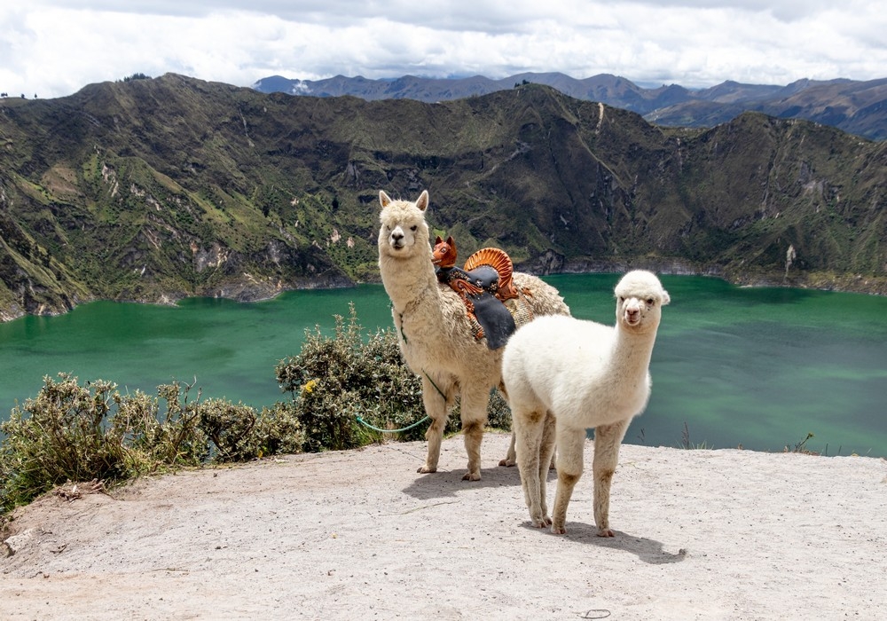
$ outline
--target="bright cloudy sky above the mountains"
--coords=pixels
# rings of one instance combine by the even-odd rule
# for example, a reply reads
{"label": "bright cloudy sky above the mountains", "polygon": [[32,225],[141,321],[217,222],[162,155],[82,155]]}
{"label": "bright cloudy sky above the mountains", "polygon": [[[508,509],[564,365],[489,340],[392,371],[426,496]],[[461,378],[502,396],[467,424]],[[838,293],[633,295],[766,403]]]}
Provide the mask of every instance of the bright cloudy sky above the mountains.
{"label": "bright cloudy sky above the mountains", "polygon": [[884,33],[882,0],[20,0],[0,4],[0,91],[63,97],[168,72],[239,86],[524,71],[691,88],[873,80],[887,77]]}

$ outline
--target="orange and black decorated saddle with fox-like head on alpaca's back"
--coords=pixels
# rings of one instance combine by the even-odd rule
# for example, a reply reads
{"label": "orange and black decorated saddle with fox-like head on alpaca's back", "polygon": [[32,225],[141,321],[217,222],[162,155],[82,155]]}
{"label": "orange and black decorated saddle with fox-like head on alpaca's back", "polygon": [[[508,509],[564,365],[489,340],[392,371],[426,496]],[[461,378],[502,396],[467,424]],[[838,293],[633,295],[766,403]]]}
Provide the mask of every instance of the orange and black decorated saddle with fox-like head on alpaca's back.
{"label": "orange and black decorated saddle with fox-like head on alpaca's back", "polygon": [[[435,240],[431,261],[437,280],[459,294],[475,326],[475,339],[484,336],[487,347],[498,350],[517,329],[515,318],[530,311],[514,287],[514,265],[504,250],[483,248],[468,257],[465,266],[456,267],[456,242],[452,237]],[[529,292],[524,292],[529,295]],[[528,318],[520,317],[523,324]]]}

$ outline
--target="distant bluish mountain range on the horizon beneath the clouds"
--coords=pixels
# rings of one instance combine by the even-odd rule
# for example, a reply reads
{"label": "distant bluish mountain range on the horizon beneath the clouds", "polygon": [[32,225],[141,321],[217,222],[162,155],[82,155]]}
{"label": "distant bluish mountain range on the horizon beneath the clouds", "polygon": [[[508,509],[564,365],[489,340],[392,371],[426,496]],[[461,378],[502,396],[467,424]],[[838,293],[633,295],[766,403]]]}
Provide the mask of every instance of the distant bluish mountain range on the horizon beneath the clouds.
{"label": "distant bluish mountain range on the horizon beneath the clouds", "polygon": [[569,97],[631,110],[648,122],[669,127],[714,127],[751,111],[820,122],[871,140],[887,139],[887,78],[867,82],[798,80],[787,86],[725,82],[691,90],[677,84],[646,89],[608,74],[584,80],[560,73],[526,73],[502,80],[482,75],[454,79],[404,75],[381,80],[342,75],[326,80],[295,80],[272,75],[253,84],[253,88],[264,93],[353,95],[367,100],[417,99],[433,103],[487,95],[525,83],[546,84]]}

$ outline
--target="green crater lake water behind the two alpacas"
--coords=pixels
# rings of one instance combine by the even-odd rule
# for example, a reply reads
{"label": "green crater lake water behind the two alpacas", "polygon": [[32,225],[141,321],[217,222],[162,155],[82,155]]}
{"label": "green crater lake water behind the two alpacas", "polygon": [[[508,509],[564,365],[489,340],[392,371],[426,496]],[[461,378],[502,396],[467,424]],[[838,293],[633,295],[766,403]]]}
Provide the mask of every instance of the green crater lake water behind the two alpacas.
{"label": "green crater lake water behind the two alpacas", "polygon": [[[612,325],[618,275],[546,277],[578,318]],[[887,298],[664,276],[647,411],[625,442],[887,456]],[[96,302],[0,324],[0,420],[43,376],[73,373],[155,394],[170,381],[202,397],[261,407],[284,400],[274,376],[305,330],[333,333],[354,303],[367,331],[391,325],[380,285],[287,292],[258,303],[193,298],[177,306]],[[685,425],[688,436],[685,436]]]}

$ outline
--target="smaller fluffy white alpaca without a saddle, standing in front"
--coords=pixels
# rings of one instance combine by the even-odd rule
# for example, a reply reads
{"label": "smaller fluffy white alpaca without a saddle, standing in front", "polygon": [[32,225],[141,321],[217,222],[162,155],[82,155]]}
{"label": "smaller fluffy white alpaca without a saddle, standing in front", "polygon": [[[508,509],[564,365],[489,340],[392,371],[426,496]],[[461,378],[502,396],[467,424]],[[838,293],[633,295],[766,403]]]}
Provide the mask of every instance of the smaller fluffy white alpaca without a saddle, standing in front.
{"label": "smaller fluffy white alpaca without a saddle, standing in front", "polygon": [[[616,285],[616,326],[544,317],[519,328],[506,344],[502,379],[533,526],[566,532],[586,429],[594,428],[594,522],[600,537],[613,537],[609,491],[619,445],[629,422],[647,407],[650,356],[662,307],[670,301],[655,275],[630,271]],[[546,474],[555,442],[558,484],[551,518]]]}

